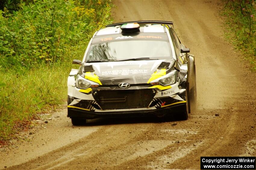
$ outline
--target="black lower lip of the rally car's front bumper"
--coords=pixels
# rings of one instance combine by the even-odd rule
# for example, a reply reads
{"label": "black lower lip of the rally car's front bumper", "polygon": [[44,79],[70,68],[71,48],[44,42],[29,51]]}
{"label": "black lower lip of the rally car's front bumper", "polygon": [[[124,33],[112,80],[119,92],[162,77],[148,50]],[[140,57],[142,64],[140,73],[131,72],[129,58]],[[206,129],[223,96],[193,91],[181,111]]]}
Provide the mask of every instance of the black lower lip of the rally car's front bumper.
{"label": "black lower lip of the rally car's front bumper", "polygon": [[150,116],[169,116],[186,112],[186,102],[176,103],[171,106],[153,110],[132,110],[118,112],[95,112],[77,108],[68,108],[67,117],[75,119],[96,119],[96,118],[134,118]]}

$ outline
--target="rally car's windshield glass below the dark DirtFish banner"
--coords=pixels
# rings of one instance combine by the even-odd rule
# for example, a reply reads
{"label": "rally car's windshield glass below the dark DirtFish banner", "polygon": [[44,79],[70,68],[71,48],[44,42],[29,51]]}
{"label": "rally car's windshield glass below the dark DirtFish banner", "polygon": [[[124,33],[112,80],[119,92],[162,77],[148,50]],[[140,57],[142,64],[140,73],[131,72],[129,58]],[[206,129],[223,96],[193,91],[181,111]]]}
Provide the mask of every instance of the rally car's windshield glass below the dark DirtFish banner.
{"label": "rally car's windshield glass below the dark DirtFish banner", "polygon": [[119,61],[132,58],[170,59],[170,44],[166,40],[125,40],[94,44],[86,62]]}

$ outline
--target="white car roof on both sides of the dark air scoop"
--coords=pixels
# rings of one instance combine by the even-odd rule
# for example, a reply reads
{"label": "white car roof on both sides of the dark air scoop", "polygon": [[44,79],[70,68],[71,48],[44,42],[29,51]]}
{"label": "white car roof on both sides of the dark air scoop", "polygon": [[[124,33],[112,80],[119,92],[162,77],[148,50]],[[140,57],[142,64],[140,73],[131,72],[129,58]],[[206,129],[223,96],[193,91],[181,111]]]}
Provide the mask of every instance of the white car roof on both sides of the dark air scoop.
{"label": "white car roof on both sides of the dark air scoop", "polygon": [[[119,34],[122,32],[121,25],[127,23],[138,23],[140,32],[166,32],[164,27],[173,25],[171,21],[130,21],[107,25],[96,32],[95,35]],[[169,26],[168,26],[169,27]]]}

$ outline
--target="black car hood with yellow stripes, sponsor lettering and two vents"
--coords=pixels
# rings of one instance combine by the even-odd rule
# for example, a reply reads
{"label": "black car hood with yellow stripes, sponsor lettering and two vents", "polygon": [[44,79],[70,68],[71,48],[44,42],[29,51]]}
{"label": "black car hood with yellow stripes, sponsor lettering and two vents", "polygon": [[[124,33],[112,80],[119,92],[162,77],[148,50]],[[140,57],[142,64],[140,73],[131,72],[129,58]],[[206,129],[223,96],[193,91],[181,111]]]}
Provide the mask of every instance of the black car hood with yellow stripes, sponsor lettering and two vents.
{"label": "black car hood with yellow stripes, sponsor lettering and two vents", "polygon": [[98,79],[102,85],[118,85],[123,82],[145,84],[152,74],[163,76],[161,74],[169,73],[175,63],[174,59],[84,63],[79,73],[91,81]]}

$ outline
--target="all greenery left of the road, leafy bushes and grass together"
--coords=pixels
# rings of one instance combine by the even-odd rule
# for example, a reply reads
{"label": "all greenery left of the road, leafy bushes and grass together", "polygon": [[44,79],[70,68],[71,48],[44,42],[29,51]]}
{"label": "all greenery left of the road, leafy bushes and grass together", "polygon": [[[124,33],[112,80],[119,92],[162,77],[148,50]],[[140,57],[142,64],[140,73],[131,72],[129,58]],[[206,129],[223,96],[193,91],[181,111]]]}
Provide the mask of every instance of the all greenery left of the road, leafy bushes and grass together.
{"label": "all greenery left of the road, leafy bushes and grass together", "polygon": [[107,0],[29,2],[0,10],[0,141],[66,101],[72,60],[82,59],[94,32],[111,23]]}

